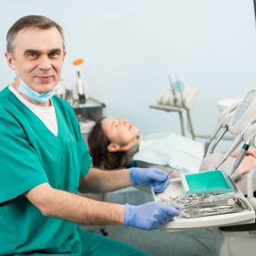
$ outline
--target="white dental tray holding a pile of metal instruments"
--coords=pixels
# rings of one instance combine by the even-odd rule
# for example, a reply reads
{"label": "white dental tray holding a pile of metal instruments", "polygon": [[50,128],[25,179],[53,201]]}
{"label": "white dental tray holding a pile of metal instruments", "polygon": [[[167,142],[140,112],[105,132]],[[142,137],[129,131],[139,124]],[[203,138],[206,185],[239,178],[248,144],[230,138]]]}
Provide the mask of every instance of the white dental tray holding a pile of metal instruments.
{"label": "white dental tray holding a pile of metal instruments", "polygon": [[[186,193],[189,190],[183,189],[182,182],[184,181],[181,178],[172,179],[163,193],[154,193],[152,190],[155,201],[179,207],[181,210],[181,215],[174,217],[173,221],[164,225],[163,230],[170,232],[200,227],[254,223],[255,211],[244,198],[243,193],[229,176],[224,174],[220,177],[224,179],[223,182],[226,182],[224,182],[225,188],[232,189],[230,192],[209,192],[211,191],[209,189],[200,187],[199,190],[198,186],[190,186],[191,190],[200,191],[200,193]],[[187,179],[188,183],[190,183],[189,181],[192,180]],[[210,187],[210,189],[212,188]]]}

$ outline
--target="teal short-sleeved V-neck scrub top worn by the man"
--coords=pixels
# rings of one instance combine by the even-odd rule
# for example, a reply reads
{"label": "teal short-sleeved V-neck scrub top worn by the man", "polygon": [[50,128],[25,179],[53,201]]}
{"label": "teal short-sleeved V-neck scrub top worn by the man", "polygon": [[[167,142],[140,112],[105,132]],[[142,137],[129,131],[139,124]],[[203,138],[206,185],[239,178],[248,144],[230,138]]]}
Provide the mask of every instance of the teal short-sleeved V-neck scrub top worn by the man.
{"label": "teal short-sleeved V-neck scrub top worn by the man", "polygon": [[45,182],[76,193],[92,163],[74,110],[52,102],[57,137],[8,87],[0,93],[0,255],[80,255],[76,225],[43,216],[22,195]]}

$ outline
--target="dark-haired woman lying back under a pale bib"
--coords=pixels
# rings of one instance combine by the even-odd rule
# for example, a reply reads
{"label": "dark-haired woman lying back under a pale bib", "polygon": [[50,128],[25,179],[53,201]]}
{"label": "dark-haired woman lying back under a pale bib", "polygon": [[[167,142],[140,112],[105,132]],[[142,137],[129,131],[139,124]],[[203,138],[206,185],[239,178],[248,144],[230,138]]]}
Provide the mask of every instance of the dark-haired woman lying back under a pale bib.
{"label": "dark-haired woman lying back under a pale bib", "polygon": [[[151,136],[146,142],[138,134],[138,128],[131,125],[128,120],[110,117],[98,120],[88,137],[93,166],[104,170],[128,166],[149,167],[158,163],[158,165],[162,165],[161,168],[166,172],[168,172],[168,167],[166,168],[165,165],[169,165],[172,168],[176,167],[182,172],[187,172],[188,169],[192,169],[190,170],[192,172],[206,171],[215,169],[216,163],[223,156],[221,153],[207,154],[207,157],[202,160],[203,150],[201,144],[170,132],[162,134],[160,138],[159,135]],[[170,146],[170,144],[172,145]],[[151,150],[148,151],[148,148]],[[161,159],[155,159],[157,154],[152,154],[152,149],[154,149],[154,153],[156,152],[162,158],[165,157],[167,151],[171,156],[173,154],[176,157],[171,157],[171,163],[170,159],[169,162],[161,162]],[[176,154],[177,152],[182,154]],[[187,154],[184,154],[184,152]],[[234,152],[222,164],[221,169],[230,173],[235,157],[237,157],[237,153]],[[191,162],[190,159],[193,159],[193,161]],[[172,164],[172,161],[175,163]],[[243,193],[246,193],[246,179],[243,179],[243,174],[249,172],[255,166],[256,151],[250,150],[232,176]],[[174,177],[179,176],[179,174],[179,172],[172,172]]]}

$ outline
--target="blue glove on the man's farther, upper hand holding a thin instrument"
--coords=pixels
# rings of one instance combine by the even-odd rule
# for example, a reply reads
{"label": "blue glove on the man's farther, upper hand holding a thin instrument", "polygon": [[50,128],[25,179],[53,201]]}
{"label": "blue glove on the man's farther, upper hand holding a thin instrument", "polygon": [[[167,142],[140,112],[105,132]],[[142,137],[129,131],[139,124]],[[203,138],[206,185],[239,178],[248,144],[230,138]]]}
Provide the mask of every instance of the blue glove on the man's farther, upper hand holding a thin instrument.
{"label": "blue glove on the man's farther, upper hand holding a thin instrument", "polygon": [[170,184],[170,177],[166,172],[157,168],[130,168],[129,178],[134,185],[154,187],[154,192],[163,192]]}

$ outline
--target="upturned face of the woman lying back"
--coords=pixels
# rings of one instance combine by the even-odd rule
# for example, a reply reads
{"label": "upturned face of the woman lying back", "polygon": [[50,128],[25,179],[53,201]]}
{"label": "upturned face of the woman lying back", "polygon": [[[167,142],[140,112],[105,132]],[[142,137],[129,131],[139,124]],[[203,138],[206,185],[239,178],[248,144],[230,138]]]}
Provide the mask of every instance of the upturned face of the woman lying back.
{"label": "upturned face of the woman lying back", "polygon": [[138,128],[126,119],[102,119],[102,129],[110,142],[119,146],[127,146],[133,140],[137,140]]}

